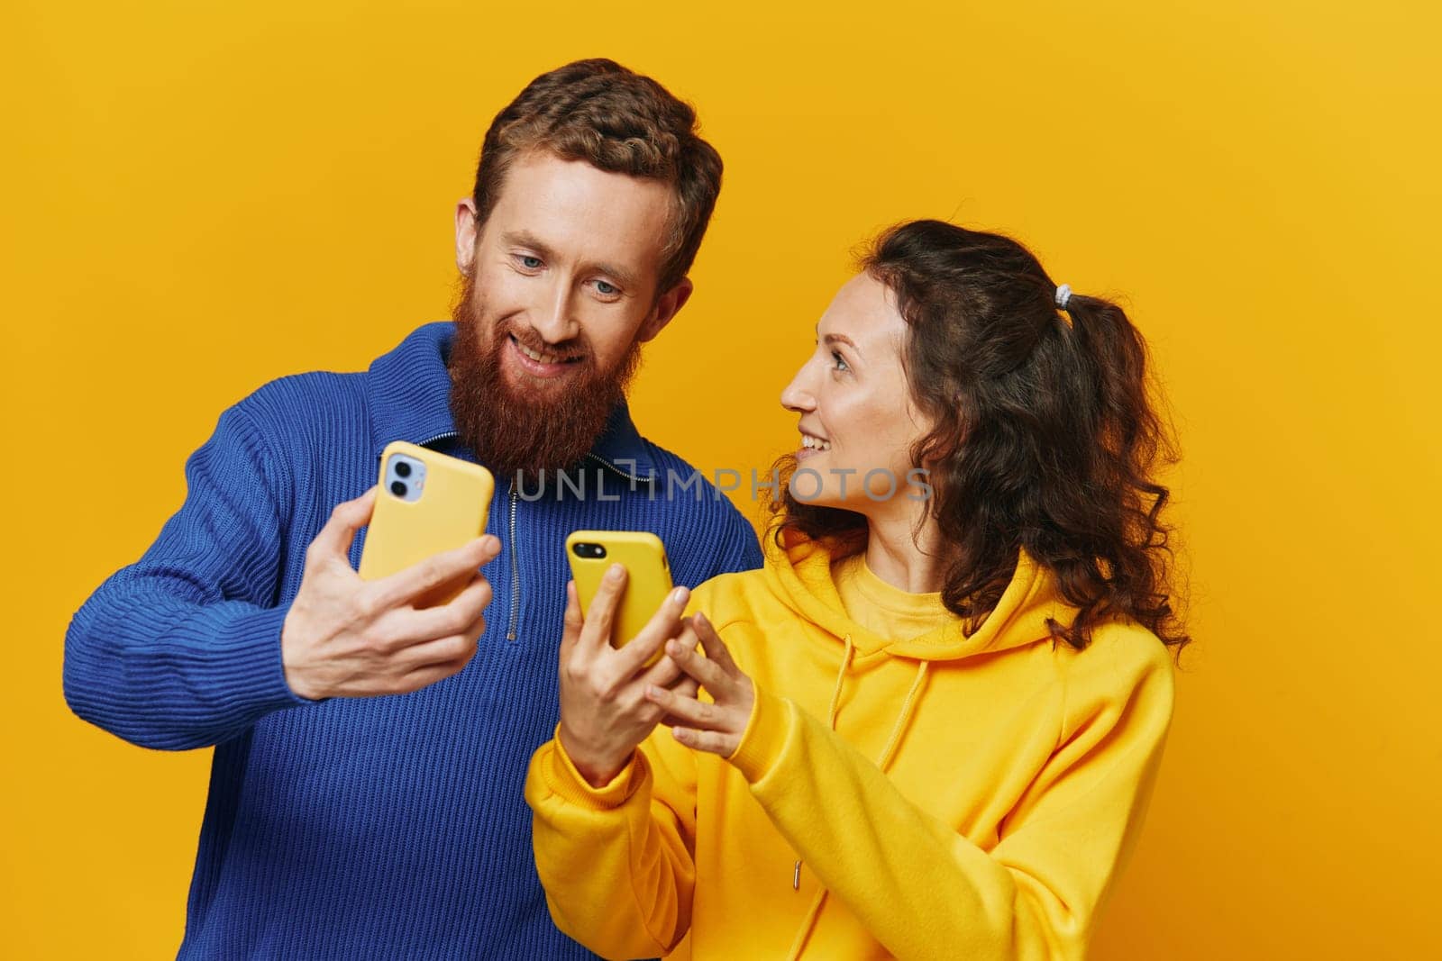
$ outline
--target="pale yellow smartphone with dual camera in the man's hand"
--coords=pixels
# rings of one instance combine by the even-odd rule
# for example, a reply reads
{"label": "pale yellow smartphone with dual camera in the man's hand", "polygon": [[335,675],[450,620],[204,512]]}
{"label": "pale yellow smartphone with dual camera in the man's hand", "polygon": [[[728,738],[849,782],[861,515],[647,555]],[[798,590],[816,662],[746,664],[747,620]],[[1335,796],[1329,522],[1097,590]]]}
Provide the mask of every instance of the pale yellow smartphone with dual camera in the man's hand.
{"label": "pale yellow smartphone with dual camera in the man's hand", "polygon": [[[360,549],[360,576],[378,581],[453,550],[486,532],[496,480],[485,467],[392,441],[381,454],[375,511]],[[473,575],[427,591],[415,607],[435,607],[466,589]]]}

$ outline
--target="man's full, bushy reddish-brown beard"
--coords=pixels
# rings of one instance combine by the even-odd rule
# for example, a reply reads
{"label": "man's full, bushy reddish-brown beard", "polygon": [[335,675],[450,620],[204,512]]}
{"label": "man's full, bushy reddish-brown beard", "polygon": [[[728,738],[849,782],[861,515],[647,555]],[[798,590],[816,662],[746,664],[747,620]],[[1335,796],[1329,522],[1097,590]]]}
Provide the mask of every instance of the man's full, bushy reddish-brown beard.
{"label": "man's full, bushy reddish-brown beard", "polygon": [[[611,370],[596,369],[585,337],[547,344],[529,326],[487,317],[470,278],[451,311],[456,340],[450,353],[450,408],[460,439],[500,483],[516,473],[552,473],[575,467],[596,445],[626,386],[640,366],[640,344],[632,344]],[[554,383],[518,390],[506,376],[503,352],[510,337],[536,352],[575,356],[575,370]]]}

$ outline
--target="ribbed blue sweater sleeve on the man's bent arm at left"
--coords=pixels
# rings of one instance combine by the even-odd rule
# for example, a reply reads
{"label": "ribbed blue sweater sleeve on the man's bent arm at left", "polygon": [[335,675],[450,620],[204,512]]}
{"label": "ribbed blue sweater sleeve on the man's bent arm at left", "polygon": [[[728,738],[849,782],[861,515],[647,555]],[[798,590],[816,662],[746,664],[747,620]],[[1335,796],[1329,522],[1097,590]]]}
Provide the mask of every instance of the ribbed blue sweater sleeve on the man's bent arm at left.
{"label": "ribbed blue sweater sleeve on the man's bent arm at left", "polygon": [[147,748],[215,745],[310,703],[286,684],[274,607],[281,478],[238,405],[186,464],[187,494],[134,565],[102,584],[65,635],[65,699]]}

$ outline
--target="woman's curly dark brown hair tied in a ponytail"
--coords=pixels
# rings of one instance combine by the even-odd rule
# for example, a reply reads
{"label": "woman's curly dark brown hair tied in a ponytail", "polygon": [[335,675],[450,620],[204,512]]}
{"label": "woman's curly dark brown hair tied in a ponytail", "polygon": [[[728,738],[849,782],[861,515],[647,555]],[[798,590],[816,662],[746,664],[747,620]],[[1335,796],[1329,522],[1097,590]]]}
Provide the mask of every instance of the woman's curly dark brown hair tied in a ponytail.
{"label": "woman's curly dark brown hair tied in a ponytail", "polygon": [[[1146,344],[1122,308],[1071,294],[1060,311],[1027,248],[940,220],[891,228],[861,268],[897,300],[911,398],[934,422],[911,460],[929,470],[929,516],[953,552],[947,609],[975,631],[1025,547],[1079,608],[1071,625],[1051,622],[1054,640],[1080,650],[1092,628],[1128,617],[1180,651],[1191,638],[1168,594],[1168,490],[1154,477],[1177,454],[1152,402]],[[776,490],[777,543],[789,530],[864,543],[861,514]]]}

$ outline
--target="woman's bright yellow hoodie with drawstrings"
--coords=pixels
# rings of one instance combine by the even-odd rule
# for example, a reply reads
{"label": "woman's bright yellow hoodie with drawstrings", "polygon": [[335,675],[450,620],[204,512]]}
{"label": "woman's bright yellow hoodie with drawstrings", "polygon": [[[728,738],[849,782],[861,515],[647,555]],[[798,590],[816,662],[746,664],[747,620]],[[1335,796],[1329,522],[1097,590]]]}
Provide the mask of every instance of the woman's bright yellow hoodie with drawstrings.
{"label": "woman's bright yellow hoodie with drawstrings", "polygon": [[1077,651],[1025,552],[996,609],[887,638],[793,539],[692,595],[756,684],[730,758],[659,728],[593,788],[551,741],[526,781],[557,925],[611,958],[1080,958],[1135,843],[1172,712],[1131,621]]}

